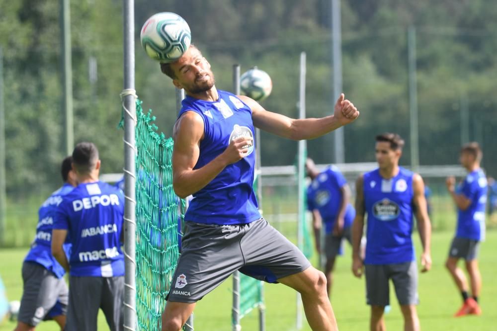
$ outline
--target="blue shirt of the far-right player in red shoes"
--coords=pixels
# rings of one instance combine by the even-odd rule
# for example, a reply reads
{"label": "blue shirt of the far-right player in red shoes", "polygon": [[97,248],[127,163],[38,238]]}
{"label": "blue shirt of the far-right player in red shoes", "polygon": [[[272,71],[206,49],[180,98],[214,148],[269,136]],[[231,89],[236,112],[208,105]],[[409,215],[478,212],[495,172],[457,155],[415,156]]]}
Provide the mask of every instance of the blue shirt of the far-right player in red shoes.
{"label": "blue shirt of the far-right player in red shoes", "polygon": [[485,240],[485,208],[487,206],[487,177],[482,169],[468,173],[458,187],[458,194],[471,200],[466,210],[458,210],[456,237]]}

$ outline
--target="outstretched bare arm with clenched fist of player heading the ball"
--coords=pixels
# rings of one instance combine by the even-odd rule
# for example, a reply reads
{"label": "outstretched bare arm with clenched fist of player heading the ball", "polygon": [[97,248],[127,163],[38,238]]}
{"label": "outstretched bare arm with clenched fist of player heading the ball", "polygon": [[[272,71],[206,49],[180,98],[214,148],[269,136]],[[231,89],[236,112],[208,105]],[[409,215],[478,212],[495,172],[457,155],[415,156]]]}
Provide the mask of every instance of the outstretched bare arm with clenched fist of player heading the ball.
{"label": "outstretched bare arm with clenched fist of player heading the ball", "polygon": [[359,117],[359,111],[342,93],[336,101],[333,115],[322,118],[293,119],[285,115],[265,110],[248,96],[239,95],[252,109],[253,125],[277,136],[292,139],[314,139],[321,137],[341,126],[352,123]]}

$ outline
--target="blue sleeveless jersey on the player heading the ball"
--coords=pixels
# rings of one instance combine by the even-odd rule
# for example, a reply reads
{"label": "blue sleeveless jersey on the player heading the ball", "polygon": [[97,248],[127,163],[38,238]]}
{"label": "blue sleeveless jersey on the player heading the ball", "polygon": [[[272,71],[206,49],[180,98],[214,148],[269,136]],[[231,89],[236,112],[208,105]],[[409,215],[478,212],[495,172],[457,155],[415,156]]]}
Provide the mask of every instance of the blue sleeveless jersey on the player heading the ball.
{"label": "blue sleeveless jersey on the player heading the ball", "polygon": [[[198,169],[223,153],[230,142],[245,136],[254,138],[251,109],[236,95],[218,90],[215,102],[186,96],[178,118],[194,111],[204,121],[204,139],[194,169]],[[255,140],[253,141],[255,144]],[[227,165],[210,183],[198,192],[185,214],[185,221],[204,224],[246,224],[259,219],[257,200],[252,189],[254,178],[254,145],[248,155]]]}

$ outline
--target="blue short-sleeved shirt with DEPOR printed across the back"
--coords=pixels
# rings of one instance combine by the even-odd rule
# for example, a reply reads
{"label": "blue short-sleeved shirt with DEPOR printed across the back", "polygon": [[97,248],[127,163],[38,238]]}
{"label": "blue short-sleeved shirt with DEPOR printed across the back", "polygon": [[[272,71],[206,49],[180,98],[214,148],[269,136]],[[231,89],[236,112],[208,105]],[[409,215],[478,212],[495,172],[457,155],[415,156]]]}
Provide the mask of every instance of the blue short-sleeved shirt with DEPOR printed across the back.
{"label": "blue short-sleeved shirt with DEPOR printed across the back", "polygon": [[64,197],[54,229],[67,230],[73,244],[69,258],[72,276],[124,275],[123,216],[122,191],[101,181],[80,184]]}

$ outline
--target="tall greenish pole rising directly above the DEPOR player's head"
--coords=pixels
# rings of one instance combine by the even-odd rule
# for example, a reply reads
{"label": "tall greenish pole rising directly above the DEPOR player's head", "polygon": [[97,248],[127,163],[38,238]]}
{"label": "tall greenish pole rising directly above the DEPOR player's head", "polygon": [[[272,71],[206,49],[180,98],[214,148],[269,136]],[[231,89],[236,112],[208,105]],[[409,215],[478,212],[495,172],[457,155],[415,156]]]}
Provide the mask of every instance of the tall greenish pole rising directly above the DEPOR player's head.
{"label": "tall greenish pole rising directly above the DEPOR player's head", "polygon": [[71,62],[71,6],[69,0],[60,0],[61,58],[64,95],[65,154],[71,155],[74,148],[73,125],[73,65]]}

